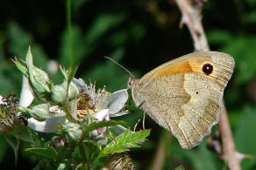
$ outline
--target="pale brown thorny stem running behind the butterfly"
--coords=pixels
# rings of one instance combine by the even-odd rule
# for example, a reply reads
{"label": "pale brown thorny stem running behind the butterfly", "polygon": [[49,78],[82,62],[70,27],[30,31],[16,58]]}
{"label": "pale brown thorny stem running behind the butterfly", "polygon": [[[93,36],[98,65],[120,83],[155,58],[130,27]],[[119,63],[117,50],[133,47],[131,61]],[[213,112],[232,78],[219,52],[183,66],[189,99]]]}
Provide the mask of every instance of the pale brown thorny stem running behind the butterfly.
{"label": "pale brown thorny stem running behind the butterfly", "polygon": [[[203,3],[197,1],[197,4],[193,4],[193,2],[189,0],[176,0],[176,3],[182,14],[181,24],[186,24],[188,26],[188,30],[194,40],[196,51],[210,51],[210,47],[203,31],[201,15]],[[220,112],[218,128],[221,133],[224,160],[227,162],[229,169],[240,170],[240,161],[237,157],[238,152],[235,148],[225,106],[223,111]]]}

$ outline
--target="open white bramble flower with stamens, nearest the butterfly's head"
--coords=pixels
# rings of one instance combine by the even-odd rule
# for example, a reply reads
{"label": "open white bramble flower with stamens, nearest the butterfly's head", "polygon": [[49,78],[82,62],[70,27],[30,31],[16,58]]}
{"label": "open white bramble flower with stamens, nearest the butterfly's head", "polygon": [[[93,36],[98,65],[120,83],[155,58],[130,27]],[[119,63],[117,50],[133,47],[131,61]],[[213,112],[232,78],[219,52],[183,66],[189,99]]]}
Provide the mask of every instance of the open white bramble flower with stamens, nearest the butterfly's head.
{"label": "open white bramble flower with stamens, nearest the butterfly's head", "polygon": [[[82,78],[73,78],[73,82],[77,85],[78,89],[83,91],[89,96],[89,101],[86,103],[89,108],[94,108],[94,121],[108,121],[110,117],[123,116],[129,113],[128,111],[122,111],[125,107],[126,101],[128,99],[127,89],[122,89],[117,92],[110,94],[106,92],[105,89],[99,89],[96,92],[95,84],[86,85]],[[117,133],[124,132],[126,130],[123,126],[113,127]],[[98,136],[106,131],[106,127],[96,129],[91,132],[92,136]]]}

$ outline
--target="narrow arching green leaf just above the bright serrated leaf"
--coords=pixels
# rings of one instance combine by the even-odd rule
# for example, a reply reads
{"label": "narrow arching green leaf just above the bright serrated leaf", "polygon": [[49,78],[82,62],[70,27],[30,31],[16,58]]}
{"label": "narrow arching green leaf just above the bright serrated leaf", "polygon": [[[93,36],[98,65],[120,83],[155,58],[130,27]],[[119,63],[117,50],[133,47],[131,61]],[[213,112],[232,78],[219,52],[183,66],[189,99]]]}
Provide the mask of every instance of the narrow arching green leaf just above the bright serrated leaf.
{"label": "narrow arching green leaf just above the bright serrated leaf", "polygon": [[82,126],[84,134],[87,134],[93,130],[107,127],[107,126],[127,126],[124,121],[115,121],[115,120],[109,120],[109,121],[100,121],[100,122],[93,122],[89,124],[89,126]]}

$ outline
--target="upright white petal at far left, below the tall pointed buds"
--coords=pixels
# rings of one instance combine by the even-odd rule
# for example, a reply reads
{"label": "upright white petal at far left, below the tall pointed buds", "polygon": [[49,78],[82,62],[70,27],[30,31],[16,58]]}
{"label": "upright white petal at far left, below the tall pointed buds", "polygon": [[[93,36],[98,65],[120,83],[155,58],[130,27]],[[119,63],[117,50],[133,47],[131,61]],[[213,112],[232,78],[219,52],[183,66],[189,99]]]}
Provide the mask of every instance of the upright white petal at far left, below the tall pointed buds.
{"label": "upright white petal at far left, below the tall pointed buds", "polygon": [[23,75],[22,78],[22,89],[20,92],[19,105],[27,107],[32,104],[34,99],[32,88],[29,85],[28,78]]}

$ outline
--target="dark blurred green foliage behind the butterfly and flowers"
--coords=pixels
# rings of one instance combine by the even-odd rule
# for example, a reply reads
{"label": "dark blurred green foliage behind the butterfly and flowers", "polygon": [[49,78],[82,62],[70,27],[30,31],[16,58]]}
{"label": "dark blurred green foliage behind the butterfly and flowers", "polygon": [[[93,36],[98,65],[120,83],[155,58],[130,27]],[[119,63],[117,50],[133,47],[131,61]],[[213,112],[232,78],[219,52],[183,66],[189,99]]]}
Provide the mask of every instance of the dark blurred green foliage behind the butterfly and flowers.
{"label": "dark blurred green foliage behind the butterfly and flowers", "polygon": [[[256,1],[208,0],[203,6],[203,26],[212,51],[230,53],[236,61],[234,74],[224,92],[233,137],[240,153],[256,157]],[[0,6],[0,94],[19,95],[21,73],[11,63],[25,58],[32,45],[35,65],[60,83],[56,64],[80,64],[76,78],[96,80],[98,87],[114,92],[126,87],[129,74],[104,56],[114,58],[138,78],[154,67],[193,51],[186,26],[179,28],[180,10],[174,0],[73,0],[72,41],[68,37],[65,1],[2,0]],[[72,44],[72,56],[68,44]],[[142,112],[122,118],[131,126]],[[138,169],[158,165],[173,169],[227,169],[217,153],[201,146],[183,150],[169,133],[146,118],[152,134],[145,145],[131,151]],[[139,127],[141,125],[139,124]],[[36,160],[18,153],[18,167],[32,169]],[[164,148],[160,150],[159,148]],[[160,153],[160,154],[157,154]],[[160,163],[157,159],[163,156]],[[243,169],[256,169],[256,160],[242,160]],[[14,168],[14,154],[0,133],[0,168]]]}

